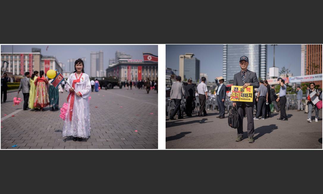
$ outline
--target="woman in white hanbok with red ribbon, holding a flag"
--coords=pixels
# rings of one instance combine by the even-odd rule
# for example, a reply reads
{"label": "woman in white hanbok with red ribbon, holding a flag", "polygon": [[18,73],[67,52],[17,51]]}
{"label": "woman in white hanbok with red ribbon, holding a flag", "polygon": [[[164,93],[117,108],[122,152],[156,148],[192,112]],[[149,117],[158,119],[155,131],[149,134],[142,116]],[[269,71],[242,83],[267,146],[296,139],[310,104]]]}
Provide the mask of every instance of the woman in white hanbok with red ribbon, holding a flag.
{"label": "woman in white hanbok with red ribbon, holding a flag", "polygon": [[69,75],[65,90],[68,106],[63,125],[62,136],[73,136],[73,141],[82,141],[90,136],[90,110],[89,96],[91,84],[89,75],[84,73],[84,62],[81,59],[75,61],[74,73]]}

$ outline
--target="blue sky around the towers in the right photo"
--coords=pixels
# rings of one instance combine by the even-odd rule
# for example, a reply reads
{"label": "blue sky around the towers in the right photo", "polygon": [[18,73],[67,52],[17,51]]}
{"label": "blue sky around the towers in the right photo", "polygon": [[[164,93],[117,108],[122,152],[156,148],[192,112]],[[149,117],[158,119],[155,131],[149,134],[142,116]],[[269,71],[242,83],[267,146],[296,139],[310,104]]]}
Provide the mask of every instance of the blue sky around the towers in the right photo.
{"label": "blue sky around the towers in the right photo", "polygon": [[[179,70],[179,55],[194,53],[200,59],[200,72],[207,73],[208,79],[214,81],[215,77],[222,76],[223,45],[166,45],[166,67]],[[267,46],[267,72],[273,66],[274,47]],[[237,65],[239,65],[237,59]],[[301,74],[301,46],[276,45],[275,66],[279,70],[283,66],[291,70],[294,76]],[[176,74],[179,72],[177,71]],[[257,75],[259,77],[259,75]]]}

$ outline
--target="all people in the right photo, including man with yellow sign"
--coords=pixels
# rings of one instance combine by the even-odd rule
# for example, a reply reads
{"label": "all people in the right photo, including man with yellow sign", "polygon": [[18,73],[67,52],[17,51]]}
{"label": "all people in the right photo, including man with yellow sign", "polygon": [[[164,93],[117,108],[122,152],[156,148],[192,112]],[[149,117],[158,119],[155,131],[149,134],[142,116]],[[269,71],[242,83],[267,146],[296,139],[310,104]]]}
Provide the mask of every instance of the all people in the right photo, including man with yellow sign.
{"label": "all people in the right photo, including man with yellow sign", "polygon": [[[257,75],[255,72],[252,72],[247,69],[249,65],[248,57],[242,56],[239,60],[239,65],[241,71],[234,75],[234,86],[242,86],[243,88],[247,88],[248,86],[253,86],[255,89],[255,93],[253,95],[252,102],[240,102],[240,101],[233,101],[232,106],[233,108],[236,107],[237,112],[239,114],[239,127],[237,128],[237,138],[235,141],[240,142],[243,137],[243,118],[247,117],[247,134],[248,134],[248,142],[253,143],[254,139],[253,136],[255,134],[255,127],[254,127],[254,120],[258,120],[260,117],[262,120],[266,118],[272,117],[271,115],[271,108],[270,104],[276,109],[276,112],[280,113],[279,118],[277,120],[281,121],[288,121],[287,114],[286,114],[286,91],[287,86],[285,84],[284,79],[278,78],[279,81],[279,96],[276,95],[275,85],[269,85],[267,80],[260,80],[258,81]],[[217,118],[223,119],[225,113],[225,106],[224,102],[227,97],[230,98],[231,93],[226,92],[226,86],[224,85],[224,79],[215,79],[215,83],[217,84],[217,89],[214,91],[214,95],[208,92],[205,81],[206,78],[202,77],[201,82],[195,86],[192,85],[192,80],[188,80],[188,84],[184,87],[181,83],[182,78],[181,76],[176,76],[176,82],[172,84],[172,89],[170,93],[170,99],[173,100],[175,107],[172,113],[169,115],[170,120],[175,120],[174,116],[176,113],[178,114],[178,119],[183,119],[183,114],[181,110],[181,101],[183,97],[186,99],[186,107],[185,112],[188,117],[192,116],[192,110],[194,107],[195,99],[198,98],[200,109],[197,113],[197,116],[203,117],[207,115],[205,110],[205,102],[208,100],[209,96],[215,97],[217,106],[219,109],[219,115]],[[320,100],[322,100],[322,92],[319,92],[315,89],[315,83],[310,83],[310,87],[307,89],[306,93],[306,110],[305,112],[308,113],[307,122],[311,123],[311,115],[312,110],[315,110],[315,121],[318,122],[318,106],[314,105],[312,100],[309,98],[312,92],[315,92],[317,96],[319,96]],[[303,92],[300,87],[297,87],[297,111],[300,111],[301,103],[303,99]],[[279,102],[279,107],[277,105]],[[256,113],[254,116],[254,108],[256,109]]]}

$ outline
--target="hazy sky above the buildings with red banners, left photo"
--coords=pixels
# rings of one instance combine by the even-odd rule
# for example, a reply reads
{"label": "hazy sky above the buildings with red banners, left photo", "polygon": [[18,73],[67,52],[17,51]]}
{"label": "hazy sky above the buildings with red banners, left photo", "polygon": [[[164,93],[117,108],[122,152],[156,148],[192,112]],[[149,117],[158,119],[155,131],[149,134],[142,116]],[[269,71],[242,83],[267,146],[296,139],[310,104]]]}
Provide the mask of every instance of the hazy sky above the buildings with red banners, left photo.
{"label": "hazy sky above the buildings with red banners, left photo", "polygon": [[[47,51],[46,48],[48,47]],[[115,58],[117,50],[126,52],[132,59],[143,59],[142,53],[158,55],[158,45],[14,45],[14,52],[31,52],[31,48],[41,48],[42,55],[55,55],[58,61],[68,65],[68,59],[86,58],[85,72],[90,73],[91,51],[103,50],[104,70],[108,68],[109,59]],[[12,45],[1,45],[1,52],[11,52]],[[74,67],[71,68],[74,70]]]}

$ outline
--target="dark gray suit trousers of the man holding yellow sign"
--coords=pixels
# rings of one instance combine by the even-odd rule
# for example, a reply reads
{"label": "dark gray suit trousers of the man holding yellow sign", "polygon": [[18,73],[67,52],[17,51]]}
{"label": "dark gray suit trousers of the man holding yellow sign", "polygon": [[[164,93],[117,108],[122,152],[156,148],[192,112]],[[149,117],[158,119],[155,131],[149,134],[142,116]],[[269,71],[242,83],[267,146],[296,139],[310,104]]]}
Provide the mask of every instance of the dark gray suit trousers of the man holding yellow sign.
{"label": "dark gray suit trousers of the man holding yellow sign", "polygon": [[247,132],[248,137],[253,137],[255,135],[255,125],[254,125],[254,106],[247,106],[244,102],[242,102],[241,106],[237,106],[239,113],[239,122],[240,125],[238,127],[238,135],[243,135],[243,117],[244,112],[247,114]]}

